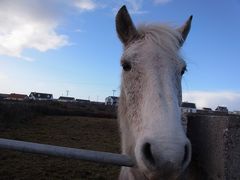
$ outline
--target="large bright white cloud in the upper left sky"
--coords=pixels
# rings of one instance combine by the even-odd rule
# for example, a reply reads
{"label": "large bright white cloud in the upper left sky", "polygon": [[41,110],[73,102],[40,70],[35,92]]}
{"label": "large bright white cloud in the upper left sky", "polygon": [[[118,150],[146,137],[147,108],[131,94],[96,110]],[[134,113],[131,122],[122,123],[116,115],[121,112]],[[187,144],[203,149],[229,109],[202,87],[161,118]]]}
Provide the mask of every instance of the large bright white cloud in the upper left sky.
{"label": "large bright white cloud in the upper left sky", "polygon": [[68,44],[68,37],[56,31],[59,24],[52,2],[0,1],[0,55],[32,60],[22,55],[24,49],[45,52]]}

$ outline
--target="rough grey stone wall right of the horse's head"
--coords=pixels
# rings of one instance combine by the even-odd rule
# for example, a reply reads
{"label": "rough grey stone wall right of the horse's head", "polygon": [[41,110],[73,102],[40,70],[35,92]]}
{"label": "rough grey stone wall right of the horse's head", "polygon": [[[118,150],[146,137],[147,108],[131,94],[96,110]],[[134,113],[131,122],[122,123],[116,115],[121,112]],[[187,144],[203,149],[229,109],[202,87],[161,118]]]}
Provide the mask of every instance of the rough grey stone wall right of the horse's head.
{"label": "rough grey stone wall right of the horse's head", "polygon": [[240,116],[188,115],[192,162],[187,179],[240,179]]}

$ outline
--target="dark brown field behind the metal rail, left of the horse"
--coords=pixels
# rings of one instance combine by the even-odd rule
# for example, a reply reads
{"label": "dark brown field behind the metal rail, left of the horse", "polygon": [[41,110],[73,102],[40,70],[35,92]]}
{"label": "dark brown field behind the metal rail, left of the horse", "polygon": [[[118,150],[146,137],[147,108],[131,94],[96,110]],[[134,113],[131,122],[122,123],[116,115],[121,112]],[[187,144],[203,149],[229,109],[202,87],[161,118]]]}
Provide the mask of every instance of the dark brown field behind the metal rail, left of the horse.
{"label": "dark brown field behind the metal rail, left of the horse", "polygon": [[[42,116],[1,129],[1,138],[120,152],[116,119]],[[0,180],[117,179],[120,167],[0,150]]]}

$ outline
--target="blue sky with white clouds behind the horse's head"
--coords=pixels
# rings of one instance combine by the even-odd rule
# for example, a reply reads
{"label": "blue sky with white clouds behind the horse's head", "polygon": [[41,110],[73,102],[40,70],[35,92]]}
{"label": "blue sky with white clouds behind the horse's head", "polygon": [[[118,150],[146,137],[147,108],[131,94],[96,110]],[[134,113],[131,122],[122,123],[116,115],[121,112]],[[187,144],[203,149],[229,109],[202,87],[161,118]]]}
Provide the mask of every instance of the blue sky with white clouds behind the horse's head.
{"label": "blue sky with white clouds behind the horse's head", "polygon": [[115,15],[122,5],[136,25],[180,27],[193,15],[181,48],[183,100],[240,110],[240,0],[1,0],[0,93],[119,95]]}

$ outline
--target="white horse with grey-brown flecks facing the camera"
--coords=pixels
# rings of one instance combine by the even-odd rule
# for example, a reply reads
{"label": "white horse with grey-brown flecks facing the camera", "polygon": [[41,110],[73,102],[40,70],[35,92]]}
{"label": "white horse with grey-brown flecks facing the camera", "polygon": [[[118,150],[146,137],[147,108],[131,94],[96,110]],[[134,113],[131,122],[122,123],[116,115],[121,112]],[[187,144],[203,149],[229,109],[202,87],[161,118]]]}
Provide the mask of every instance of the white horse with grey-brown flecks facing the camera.
{"label": "white horse with grey-brown flecks facing the camera", "polygon": [[123,6],[116,30],[123,43],[118,108],[122,153],[136,167],[123,167],[119,179],[177,179],[191,160],[191,144],[181,124],[181,77],[186,63],[179,55],[192,16],[178,29],[163,25],[136,28]]}

